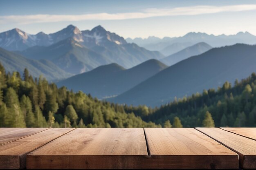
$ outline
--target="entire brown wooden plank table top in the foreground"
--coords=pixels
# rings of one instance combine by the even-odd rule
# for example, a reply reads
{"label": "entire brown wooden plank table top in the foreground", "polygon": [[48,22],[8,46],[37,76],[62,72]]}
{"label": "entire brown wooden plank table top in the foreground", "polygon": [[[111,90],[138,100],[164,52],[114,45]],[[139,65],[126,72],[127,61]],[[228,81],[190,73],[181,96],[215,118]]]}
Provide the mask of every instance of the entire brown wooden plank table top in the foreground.
{"label": "entire brown wooden plank table top in the foreground", "polygon": [[255,128],[0,128],[0,169],[256,168]]}

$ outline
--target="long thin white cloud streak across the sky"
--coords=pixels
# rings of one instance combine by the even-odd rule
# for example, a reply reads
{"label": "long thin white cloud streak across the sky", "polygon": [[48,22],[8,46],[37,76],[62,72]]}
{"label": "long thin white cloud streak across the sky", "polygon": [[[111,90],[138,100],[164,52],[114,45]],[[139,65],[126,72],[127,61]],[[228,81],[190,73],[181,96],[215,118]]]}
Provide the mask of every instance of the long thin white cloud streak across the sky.
{"label": "long thin white cloud streak across the sky", "polygon": [[193,6],[171,9],[145,9],[132,13],[91,13],[83,15],[5,15],[0,16],[0,23],[14,22],[30,24],[42,22],[82,21],[82,20],[127,20],[161,16],[202,15],[220,12],[238,12],[256,10],[256,4],[240,4],[229,6]]}

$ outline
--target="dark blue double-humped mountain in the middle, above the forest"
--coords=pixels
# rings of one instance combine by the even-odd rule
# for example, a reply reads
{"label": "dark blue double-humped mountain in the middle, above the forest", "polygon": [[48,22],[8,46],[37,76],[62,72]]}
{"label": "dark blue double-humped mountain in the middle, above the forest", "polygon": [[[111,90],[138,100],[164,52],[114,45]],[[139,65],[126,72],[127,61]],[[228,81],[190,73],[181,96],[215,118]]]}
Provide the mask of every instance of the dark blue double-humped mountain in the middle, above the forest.
{"label": "dark blue double-humped mountain in the middle, above the forest", "polygon": [[127,70],[113,63],[99,66],[56,84],[74,91],[81,90],[101,99],[123,93],[166,67],[158,60],[148,60]]}

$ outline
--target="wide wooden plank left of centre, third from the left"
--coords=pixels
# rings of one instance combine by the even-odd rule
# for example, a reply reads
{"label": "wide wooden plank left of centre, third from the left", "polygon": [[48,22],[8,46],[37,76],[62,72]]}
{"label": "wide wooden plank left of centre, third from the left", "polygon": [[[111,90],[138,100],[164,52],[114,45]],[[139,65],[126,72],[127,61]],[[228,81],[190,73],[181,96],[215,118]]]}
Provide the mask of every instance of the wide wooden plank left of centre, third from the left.
{"label": "wide wooden plank left of centre, third from the left", "polygon": [[143,157],[143,128],[77,128],[29,153],[27,169],[137,169]]}

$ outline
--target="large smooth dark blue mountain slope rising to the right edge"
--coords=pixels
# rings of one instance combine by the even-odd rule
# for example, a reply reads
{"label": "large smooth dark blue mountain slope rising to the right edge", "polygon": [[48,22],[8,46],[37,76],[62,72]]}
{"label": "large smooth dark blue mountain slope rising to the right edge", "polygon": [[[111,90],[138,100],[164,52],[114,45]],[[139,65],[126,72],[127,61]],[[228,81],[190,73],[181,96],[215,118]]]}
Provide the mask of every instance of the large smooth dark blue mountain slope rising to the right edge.
{"label": "large smooth dark blue mountain slope rising to the right edge", "polygon": [[108,99],[126,104],[159,106],[203,89],[217,88],[256,71],[256,46],[235,44],[211,49],[178,62],[125,93]]}

